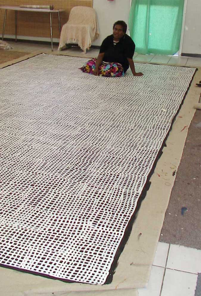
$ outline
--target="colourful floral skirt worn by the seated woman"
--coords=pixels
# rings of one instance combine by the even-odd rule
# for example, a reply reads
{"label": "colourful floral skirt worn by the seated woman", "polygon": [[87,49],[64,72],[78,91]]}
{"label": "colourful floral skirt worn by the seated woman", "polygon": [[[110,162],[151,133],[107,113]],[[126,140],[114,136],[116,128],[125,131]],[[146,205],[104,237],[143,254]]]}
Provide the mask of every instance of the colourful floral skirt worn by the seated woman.
{"label": "colourful floral skirt worn by the seated woman", "polygon": [[[82,72],[93,74],[96,67],[96,59],[91,59],[80,68]],[[124,76],[124,69],[119,63],[102,63],[99,67],[99,76],[105,77],[121,77]]]}

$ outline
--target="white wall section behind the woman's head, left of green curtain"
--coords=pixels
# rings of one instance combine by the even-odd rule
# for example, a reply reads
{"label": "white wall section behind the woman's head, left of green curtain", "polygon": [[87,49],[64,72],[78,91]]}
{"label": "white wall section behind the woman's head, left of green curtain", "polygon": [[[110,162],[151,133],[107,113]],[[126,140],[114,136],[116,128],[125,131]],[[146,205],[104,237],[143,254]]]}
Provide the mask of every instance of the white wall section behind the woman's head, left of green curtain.
{"label": "white wall section behind the woman's head, left of green curtain", "polygon": [[93,0],[93,8],[98,18],[100,37],[92,45],[101,45],[103,39],[112,34],[116,21],[125,21],[128,25],[130,0]]}

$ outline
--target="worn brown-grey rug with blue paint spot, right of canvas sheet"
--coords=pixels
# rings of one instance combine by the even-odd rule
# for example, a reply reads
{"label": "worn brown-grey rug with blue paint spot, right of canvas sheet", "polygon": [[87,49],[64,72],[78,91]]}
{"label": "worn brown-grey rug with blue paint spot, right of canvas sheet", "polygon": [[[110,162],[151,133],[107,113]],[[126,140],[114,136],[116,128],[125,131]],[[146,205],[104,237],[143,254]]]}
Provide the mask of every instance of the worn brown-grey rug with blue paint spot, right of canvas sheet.
{"label": "worn brown-grey rug with blue paint spot, right of canvas sheet", "polygon": [[201,249],[201,110],[188,130],[160,241]]}

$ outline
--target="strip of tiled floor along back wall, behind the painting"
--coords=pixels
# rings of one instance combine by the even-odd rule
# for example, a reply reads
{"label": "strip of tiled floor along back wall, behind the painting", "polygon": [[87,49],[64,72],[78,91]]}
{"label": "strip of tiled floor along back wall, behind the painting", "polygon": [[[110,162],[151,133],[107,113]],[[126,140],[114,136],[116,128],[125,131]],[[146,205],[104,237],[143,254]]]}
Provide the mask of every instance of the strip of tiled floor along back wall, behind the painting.
{"label": "strip of tiled floor along back wall, behind the painting", "polygon": [[[13,46],[13,50],[15,51],[49,51],[52,53],[50,44],[38,44],[38,43],[29,43],[29,42],[14,42],[9,41],[9,44]],[[87,51],[86,54],[83,54],[80,48],[71,47],[64,51],[57,51],[58,46],[53,45],[53,53],[57,54],[67,54],[74,56],[83,56],[83,57],[96,57],[99,53],[98,49],[91,48]],[[191,58],[185,56],[163,56],[163,55],[155,55],[155,54],[139,54],[135,53],[133,57],[136,62],[151,62],[151,63],[159,63],[159,64],[174,64],[178,66],[196,66],[201,67],[201,58]]]}

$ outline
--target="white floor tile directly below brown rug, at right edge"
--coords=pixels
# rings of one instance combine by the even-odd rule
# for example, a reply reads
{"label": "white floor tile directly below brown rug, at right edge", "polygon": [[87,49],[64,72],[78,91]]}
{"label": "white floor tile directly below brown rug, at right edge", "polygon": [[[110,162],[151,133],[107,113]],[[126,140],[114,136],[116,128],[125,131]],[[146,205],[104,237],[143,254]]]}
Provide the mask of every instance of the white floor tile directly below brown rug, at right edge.
{"label": "white floor tile directly below brown rug, at right edge", "polygon": [[166,267],[191,273],[200,273],[201,250],[171,244]]}

